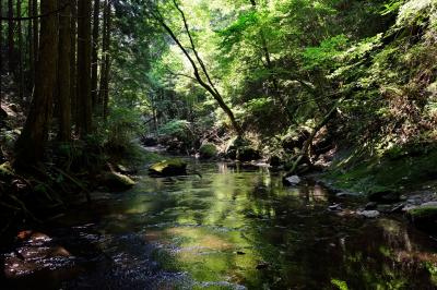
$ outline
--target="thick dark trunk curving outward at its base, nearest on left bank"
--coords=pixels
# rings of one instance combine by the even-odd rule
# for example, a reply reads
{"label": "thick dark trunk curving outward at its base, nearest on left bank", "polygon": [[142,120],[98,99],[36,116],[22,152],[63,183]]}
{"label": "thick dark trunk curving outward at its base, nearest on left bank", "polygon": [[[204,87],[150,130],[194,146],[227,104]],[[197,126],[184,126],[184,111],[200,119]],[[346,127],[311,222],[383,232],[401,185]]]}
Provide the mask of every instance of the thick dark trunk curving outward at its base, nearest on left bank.
{"label": "thick dark trunk curving outward at its base, nearest on left bank", "polygon": [[[42,13],[57,9],[56,0],[42,0]],[[23,131],[15,144],[15,166],[29,167],[42,160],[48,138],[54,104],[58,56],[58,15],[42,17],[39,60],[36,64],[36,85]]]}

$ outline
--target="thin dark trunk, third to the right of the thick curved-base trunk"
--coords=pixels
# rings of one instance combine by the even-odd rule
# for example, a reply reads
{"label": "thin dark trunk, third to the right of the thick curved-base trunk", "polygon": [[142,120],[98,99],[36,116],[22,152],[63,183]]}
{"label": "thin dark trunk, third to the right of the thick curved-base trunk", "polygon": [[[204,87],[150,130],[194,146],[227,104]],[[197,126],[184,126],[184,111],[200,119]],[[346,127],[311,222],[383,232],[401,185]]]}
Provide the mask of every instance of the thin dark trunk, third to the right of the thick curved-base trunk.
{"label": "thin dark trunk, third to the right of the thick curved-base trunk", "polygon": [[93,12],[93,52],[91,55],[91,95],[93,99],[93,110],[97,106],[97,71],[98,71],[98,28],[99,28],[101,0],[94,0]]}

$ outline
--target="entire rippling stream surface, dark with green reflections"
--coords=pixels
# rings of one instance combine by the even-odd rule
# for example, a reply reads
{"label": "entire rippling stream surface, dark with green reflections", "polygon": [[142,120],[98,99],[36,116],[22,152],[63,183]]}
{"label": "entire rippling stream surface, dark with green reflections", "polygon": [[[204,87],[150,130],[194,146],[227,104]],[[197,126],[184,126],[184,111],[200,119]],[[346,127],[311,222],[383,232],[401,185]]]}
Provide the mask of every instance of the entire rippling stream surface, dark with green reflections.
{"label": "entire rippling stream surface, dark with green reflections", "polygon": [[364,219],[265,167],[189,162],[200,174],[143,171],[20,233],[0,289],[437,289],[437,242],[403,218]]}

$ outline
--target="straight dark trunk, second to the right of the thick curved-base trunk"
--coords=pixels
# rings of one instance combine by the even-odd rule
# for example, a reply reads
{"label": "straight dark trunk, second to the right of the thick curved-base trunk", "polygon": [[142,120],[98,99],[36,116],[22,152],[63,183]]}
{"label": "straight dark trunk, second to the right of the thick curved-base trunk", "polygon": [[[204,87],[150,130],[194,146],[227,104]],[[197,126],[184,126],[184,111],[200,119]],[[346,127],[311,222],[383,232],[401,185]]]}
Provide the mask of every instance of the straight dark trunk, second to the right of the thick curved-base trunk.
{"label": "straight dark trunk, second to the right of the thick curved-base trunk", "polygon": [[91,0],[78,2],[78,95],[79,133],[92,131],[91,99]]}

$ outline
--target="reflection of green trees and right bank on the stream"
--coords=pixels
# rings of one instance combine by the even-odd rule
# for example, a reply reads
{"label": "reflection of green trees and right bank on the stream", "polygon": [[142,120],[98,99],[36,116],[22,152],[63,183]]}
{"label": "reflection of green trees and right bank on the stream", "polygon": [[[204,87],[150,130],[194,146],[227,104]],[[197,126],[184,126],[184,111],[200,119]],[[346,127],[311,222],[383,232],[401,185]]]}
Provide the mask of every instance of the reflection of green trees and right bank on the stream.
{"label": "reflection of green trees and right bank on the stream", "polygon": [[[430,245],[420,246],[421,235],[404,225],[338,217],[326,212],[322,189],[284,188],[280,176],[264,169],[220,164],[221,173],[208,170],[200,170],[202,179],[145,182],[153,197],[137,194],[125,205],[135,214],[115,222],[123,230],[140,228],[144,237],[153,233],[153,240],[144,239],[160,244],[160,262],[165,256],[165,267],[198,280],[231,279],[255,289],[320,289],[332,278],[351,289],[432,285],[420,266],[421,258],[432,261]],[[269,266],[256,269],[260,262]]]}

